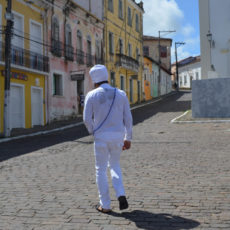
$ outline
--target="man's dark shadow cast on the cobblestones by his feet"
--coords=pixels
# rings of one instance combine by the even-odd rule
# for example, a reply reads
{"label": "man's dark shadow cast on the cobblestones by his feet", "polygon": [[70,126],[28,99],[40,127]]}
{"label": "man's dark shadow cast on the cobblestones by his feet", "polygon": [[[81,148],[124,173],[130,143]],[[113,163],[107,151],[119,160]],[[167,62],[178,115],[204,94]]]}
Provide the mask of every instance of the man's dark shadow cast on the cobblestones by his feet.
{"label": "man's dark shadow cast on the cobblestones by his feet", "polygon": [[136,224],[138,228],[145,230],[180,230],[192,229],[200,225],[199,222],[186,219],[180,216],[174,216],[166,213],[154,214],[147,211],[134,210],[131,212],[115,213],[110,215],[114,217],[122,217]]}

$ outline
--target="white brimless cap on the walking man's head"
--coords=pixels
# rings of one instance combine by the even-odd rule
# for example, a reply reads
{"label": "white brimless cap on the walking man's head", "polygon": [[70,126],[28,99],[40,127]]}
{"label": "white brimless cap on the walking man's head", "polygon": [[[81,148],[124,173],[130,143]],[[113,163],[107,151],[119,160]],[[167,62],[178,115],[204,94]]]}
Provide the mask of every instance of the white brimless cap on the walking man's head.
{"label": "white brimless cap on the walking man's head", "polygon": [[92,78],[93,83],[108,81],[108,71],[104,65],[93,66],[89,71],[89,75]]}

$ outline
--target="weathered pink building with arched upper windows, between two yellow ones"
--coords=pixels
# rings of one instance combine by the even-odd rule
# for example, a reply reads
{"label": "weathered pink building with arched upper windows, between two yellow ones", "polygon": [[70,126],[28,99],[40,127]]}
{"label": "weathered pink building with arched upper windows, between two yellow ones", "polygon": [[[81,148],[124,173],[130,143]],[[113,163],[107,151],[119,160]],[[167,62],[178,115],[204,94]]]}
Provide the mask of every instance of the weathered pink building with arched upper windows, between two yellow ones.
{"label": "weathered pink building with arched upper windows, between two yellow ones", "polygon": [[76,1],[65,3],[55,1],[47,13],[49,122],[79,113],[78,94],[86,95],[92,89],[89,69],[103,63],[104,56],[101,19]]}

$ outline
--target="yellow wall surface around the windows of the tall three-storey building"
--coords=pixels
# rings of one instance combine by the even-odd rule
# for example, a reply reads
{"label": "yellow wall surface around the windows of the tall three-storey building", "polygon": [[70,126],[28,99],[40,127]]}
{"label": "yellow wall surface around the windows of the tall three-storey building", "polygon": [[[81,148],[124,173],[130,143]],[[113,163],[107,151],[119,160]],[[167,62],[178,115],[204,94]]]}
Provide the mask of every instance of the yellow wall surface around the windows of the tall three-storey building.
{"label": "yellow wall surface around the windows of the tall three-storey building", "polygon": [[[118,16],[118,1],[114,1],[113,12],[108,10],[108,1],[104,1],[104,12],[105,12],[105,48],[106,48],[106,66],[108,68],[109,75],[111,72],[115,73],[115,85],[120,88],[120,75],[125,78],[125,92],[130,98],[130,79],[133,79],[133,100],[130,101],[131,104],[138,102],[138,82],[140,82],[140,92],[139,97],[142,100],[142,73],[143,67],[139,64],[138,71],[134,71],[132,68],[121,67],[116,64],[118,57],[116,54],[119,51],[119,39],[123,40],[123,54],[128,55],[128,44],[132,46],[133,59],[136,59],[136,48],[139,49],[139,63],[143,63],[142,54],[142,31],[143,31],[143,11],[137,4],[132,0],[124,0],[123,2],[123,19]],[[127,11],[128,7],[131,8],[132,12],[132,27],[128,25],[127,22]],[[139,32],[136,31],[135,17],[136,13],[139,16]],[[109,53],[109,33],[113,33],[114,36],[114,54]]]}

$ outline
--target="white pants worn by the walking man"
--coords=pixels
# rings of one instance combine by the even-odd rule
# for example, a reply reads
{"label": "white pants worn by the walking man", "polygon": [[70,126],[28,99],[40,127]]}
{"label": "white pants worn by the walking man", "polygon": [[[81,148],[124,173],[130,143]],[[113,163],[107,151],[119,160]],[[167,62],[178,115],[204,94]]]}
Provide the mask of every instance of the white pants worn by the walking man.
{"label": "white pants worn by the walking man", "polygon": [[116,197],[125,196],[120,168],[120,155],[122,151],[121,142],[94,142],[96,182],[102,208],[110,209],[110,195],[107,178],[107,167],[110,167],[113,188]]}

